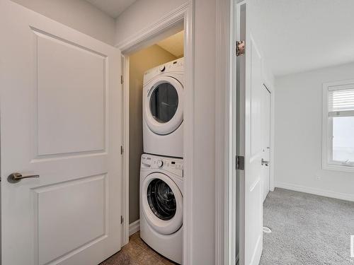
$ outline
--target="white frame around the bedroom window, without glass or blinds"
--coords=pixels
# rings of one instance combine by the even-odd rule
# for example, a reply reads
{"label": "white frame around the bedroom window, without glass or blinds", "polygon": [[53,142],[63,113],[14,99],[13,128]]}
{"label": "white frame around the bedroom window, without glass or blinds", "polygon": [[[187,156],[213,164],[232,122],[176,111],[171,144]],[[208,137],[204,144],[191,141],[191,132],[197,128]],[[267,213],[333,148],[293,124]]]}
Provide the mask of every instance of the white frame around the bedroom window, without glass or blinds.
{"label": "white frame around the bedroom window, without glass or blinds", "polygon": [[335,81],[323,83],[323,103],[322,103],[322,169],[338,170],[344,172],[354,172],[353,165],[343,165],[338,161],[333,161],[333,119],[329,119],[329,88],[331,87],[353,86],[354,79],[345,81]]}

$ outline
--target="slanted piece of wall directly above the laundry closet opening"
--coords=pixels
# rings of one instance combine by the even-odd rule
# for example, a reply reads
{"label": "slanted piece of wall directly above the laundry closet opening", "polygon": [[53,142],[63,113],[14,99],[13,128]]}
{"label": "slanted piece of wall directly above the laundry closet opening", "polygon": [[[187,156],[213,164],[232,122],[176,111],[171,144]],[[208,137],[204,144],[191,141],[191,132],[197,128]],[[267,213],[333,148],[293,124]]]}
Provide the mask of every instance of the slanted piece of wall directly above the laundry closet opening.
{"label": "slanted piece of wall directly above the laundry closet opening", "polygon": [[115,44],[144,30],[188,0],[139,0],[116,19]]}

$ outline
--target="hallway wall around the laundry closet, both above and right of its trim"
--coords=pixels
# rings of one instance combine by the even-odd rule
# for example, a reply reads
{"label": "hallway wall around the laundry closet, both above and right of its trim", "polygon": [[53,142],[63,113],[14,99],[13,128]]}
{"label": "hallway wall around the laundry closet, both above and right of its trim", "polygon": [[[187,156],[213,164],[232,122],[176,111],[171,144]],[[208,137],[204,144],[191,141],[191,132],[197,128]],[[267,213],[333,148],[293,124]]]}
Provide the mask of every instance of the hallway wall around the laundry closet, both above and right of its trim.
{"label": "hallway wall around the laundry closet, both above and right of its trim", "polygon": [[[117,20],[116,44],[185,0],[140,0]],[[195,0],[195,132],[191,264],[215,264],[215,0]],[[185,88],[188,89],[188,88]]]}

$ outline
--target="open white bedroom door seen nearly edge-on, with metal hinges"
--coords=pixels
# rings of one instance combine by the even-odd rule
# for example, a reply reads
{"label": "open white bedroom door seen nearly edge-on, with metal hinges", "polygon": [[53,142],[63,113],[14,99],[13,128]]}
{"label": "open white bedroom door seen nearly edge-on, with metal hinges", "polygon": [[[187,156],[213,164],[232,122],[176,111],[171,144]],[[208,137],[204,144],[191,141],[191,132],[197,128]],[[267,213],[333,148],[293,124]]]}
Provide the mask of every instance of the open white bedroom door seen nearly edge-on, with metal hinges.
{"label": "open white bedroom door seen nearly edge-on, with metal hinges", "polygon": [[245,54],[239,61],[239,155],[244,155],[240,177],[240,251],[242,265],[257,265],[263,249],[263,158],[262,59],[248,26],[246,4],[238,5],[239,40],[245,40]]}

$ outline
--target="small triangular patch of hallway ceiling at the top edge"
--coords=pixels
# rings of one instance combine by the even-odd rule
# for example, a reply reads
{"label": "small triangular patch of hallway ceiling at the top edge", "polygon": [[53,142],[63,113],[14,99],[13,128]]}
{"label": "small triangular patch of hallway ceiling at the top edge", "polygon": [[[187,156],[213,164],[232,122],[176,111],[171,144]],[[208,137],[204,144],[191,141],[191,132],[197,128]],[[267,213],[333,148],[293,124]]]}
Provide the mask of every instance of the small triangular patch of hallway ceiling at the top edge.
{"label": "small triangular patch of hallway ceiling at the top edge", "polygon": [[108,13],[112,18],[117,18],[120,13],[125,11],[137,0],[86,0],[96,6],[101,11]]}

